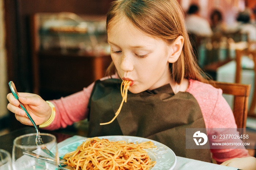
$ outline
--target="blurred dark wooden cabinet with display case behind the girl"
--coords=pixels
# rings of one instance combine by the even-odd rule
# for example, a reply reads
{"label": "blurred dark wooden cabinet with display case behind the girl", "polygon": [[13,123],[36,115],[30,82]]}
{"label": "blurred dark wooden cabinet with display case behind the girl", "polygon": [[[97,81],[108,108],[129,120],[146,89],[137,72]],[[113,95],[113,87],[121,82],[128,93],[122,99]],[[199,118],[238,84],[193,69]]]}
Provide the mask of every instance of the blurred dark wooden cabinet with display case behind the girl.
{"label": "blurred dark wooden cabinet with display case behind the girl", "polygon": [[[67,15],[70,14],[67,13]],[[57,99],[82,90],[83,87],[104,77],[112,61],[109,50],[106,50],[107,38],[104,30],[102,33],[102,24],[101,28],[98,25],[95,28],[88,28],[94,31],[101,29],[100,34],[90,32],[90,35],[87,35],[87,27],[83,29],[80,27],[79,30],[82,32],[79,32],[74,25],[74,27],[58,25],[56,30],[59,29],[59,32],[50,29],[42,30],[42,22],[46,20],[46,16],[53,18],[54,15],[57,20],[58,13],[37,13],[31,17],[33,92],[45,100]],[[72,14],[72,17],[74,15]],[[63,18],[65,17],[61,16],[61,19]],[[86,18],[95,18],[95,16]],[[79,19],[82,20],[82,18]],[[63,23],[63,20],[60,23]],[[83,25],[87,23],[84,22]],[[66,28],[72,32],[65,32]],[[102,46],[103,50],[99,46]],[[86,51],[88,49],[89,51]]]}

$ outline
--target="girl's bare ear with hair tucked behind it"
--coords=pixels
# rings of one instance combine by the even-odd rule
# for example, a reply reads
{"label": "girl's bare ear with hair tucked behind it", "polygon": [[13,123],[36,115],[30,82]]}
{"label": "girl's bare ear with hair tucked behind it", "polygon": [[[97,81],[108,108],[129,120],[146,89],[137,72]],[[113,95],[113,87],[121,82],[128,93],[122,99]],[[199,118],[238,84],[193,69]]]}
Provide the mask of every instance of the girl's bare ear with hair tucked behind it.
{"label": "girl's bare ear with hair tucked behind it", "polygon": [[183,44],[184,44],[184,37],[178,36],[176,40],[174,40],[172,45],[169,46],[171,50],[171,53],[168,58],[169,63],[174,63],[178,60],[182,52]]}

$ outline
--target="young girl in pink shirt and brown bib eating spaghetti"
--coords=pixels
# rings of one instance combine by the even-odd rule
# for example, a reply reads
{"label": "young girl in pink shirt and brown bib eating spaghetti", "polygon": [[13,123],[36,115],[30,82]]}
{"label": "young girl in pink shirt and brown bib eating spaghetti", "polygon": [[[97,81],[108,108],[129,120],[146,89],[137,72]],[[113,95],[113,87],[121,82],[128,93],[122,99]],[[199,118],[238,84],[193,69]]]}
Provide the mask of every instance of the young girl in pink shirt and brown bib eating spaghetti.
{"label": "young girl in pink shirt and brown bib eating spaghetti", "polygon": [[[186,149],[186,128],[236,128],[236,123],[221,89],[204,83],[176,0],[114,1],[106,28],[111,78],[47,103],[36,94],[19,93],[39,127],[54,130],[88,118],[89,137],[141,136],[167,145],[181,157],[210,162],[212,152],[218,163],[237,157],[255,161],[241,158],[249,156],[245,149]],[[123,80],[131,81],[127,103],[112,123],[100,125],[115,116]],[[32,125],[12,94],[7,98],[16,119]]]}

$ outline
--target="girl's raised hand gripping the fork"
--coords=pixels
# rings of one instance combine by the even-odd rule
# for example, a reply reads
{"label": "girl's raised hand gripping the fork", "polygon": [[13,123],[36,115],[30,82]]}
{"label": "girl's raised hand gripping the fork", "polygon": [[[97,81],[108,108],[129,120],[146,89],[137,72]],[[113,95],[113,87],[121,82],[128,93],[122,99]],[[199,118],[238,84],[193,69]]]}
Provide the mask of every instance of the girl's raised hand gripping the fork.
{"label": "girl's raised hand gripping the fork", "polygon": [[[18,93],[19,101],[25,105],[25,108],[29,112],[35,124],[40,125],[45,123],[52,114],[52,108],[37,94],[31,93]],[[15,113],[15,117],[22,124],[33,125],[26,112],[19,105],[19,101],[12,95],[7,94],[7,100],[10,102],[7,105],[7,109]]]}

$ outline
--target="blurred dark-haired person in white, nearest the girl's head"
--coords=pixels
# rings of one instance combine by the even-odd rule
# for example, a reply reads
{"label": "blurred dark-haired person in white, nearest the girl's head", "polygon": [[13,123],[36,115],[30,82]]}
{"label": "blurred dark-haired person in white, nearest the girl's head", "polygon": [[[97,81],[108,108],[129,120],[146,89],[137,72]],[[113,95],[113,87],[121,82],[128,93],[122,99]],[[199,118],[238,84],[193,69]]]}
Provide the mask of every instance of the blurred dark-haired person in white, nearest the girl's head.
{"label": "blurred dark-haired person in white, nearest the girl's head", "polygon": [[211,36],[212,30],[210,23],[200,16],[199,11],[198,5],[190,5],[187,11],[187,17],[185,18],[187,30],[190,34]]}

